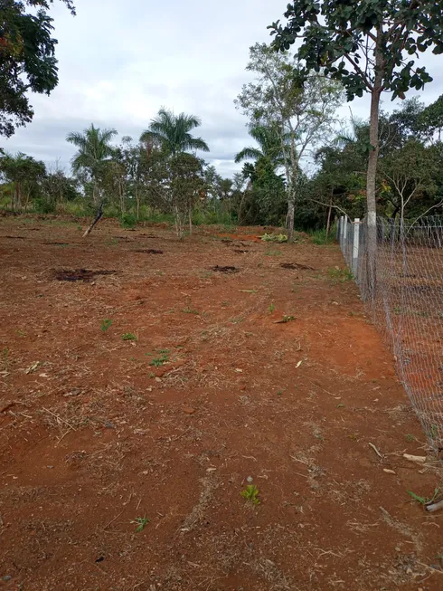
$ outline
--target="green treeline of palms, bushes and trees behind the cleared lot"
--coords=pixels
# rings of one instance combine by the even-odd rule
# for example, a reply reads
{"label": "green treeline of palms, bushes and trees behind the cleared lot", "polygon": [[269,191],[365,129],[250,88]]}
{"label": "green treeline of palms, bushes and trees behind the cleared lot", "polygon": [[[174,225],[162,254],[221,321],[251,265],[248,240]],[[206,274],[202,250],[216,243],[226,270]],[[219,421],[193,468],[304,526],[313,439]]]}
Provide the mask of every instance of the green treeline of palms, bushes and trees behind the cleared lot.
{"label": "green treeline of palms, bushes and trees behind the cleared lot", "polygon": [[[320,71],[296,86],[297,67],[289,52],[265,44],[251,48],[248,70],[256,80],[235,102],[248,117],[254,145],[235,156],[243,167],[232,178],[197,156],[209,151],[194,135],[200,119],[162,109],[137,141],[123,137],[117,144],[116,129],[94,125],[69,134],[77,148],[70,175],[22,153],[0,154],[0,205],[79,215],[103,205],[106,215],[125,225],[174,220],[179,235],[192,224],[217,223],[286,225],[290,236],[293,228],[329,228],[340,214],[363,217],[369,121],[351,119],[343,126],[337,116],[341,85]],[[378,214],[440,213],[442,128],[443,97],[427,107],[404,100],[400,109],[381,113]]]}

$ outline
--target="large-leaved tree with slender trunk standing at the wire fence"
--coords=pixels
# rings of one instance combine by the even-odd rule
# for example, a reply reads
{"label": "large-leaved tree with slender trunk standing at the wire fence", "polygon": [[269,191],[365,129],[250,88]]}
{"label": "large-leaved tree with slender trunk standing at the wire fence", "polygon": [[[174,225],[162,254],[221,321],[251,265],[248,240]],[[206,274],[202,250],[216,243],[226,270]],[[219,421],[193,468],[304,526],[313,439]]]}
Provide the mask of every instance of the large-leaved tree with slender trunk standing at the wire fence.
{"label": "large-leaved tree with slender trunk standing at the wire fence", "polygon": [[371,95],[369,157],[366,182],[370,286],[375,281],[376,173],[379,156],[379,111],[382,92],[404,98],[431,81],[425,68],[415,67],[419,52],[443,52],[443,11],[435,0],[297,0],[287,5],[287,24],[270,25],[275,47],[287,51],[301,39],[298,56],[311,71],[341,81],[347,99]]}

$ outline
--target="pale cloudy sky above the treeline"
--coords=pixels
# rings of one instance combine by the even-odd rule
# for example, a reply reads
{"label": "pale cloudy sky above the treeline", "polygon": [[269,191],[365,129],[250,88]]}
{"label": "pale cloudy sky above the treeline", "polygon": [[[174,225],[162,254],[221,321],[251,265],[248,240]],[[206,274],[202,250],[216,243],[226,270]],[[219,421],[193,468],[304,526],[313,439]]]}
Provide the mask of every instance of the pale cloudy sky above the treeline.
{"label": "pale cloudy sky above the treeline", "polygon": [[[35,95],[33,123],[1,145],[69,170],[70,131],[95,125],[138,138],[165,106],[203,120],[198,130],[211,153],[204,157],[223,176],[239,166],[233,156],[250,145],[246,119],[233,100],[250,80],[250,45],[268,42],[267,25],[281,17],[286,0],[76,0],[72,17],[52,9],[60,83],[50,97]],[[434,77],[422,100],[443,93],[442,57],[422,62]],[[390,107],[390,103],[386,103]],[[353,115],[367,117],[368,101],[353,101]],[[343,116],[349,115],[345,105]]]}

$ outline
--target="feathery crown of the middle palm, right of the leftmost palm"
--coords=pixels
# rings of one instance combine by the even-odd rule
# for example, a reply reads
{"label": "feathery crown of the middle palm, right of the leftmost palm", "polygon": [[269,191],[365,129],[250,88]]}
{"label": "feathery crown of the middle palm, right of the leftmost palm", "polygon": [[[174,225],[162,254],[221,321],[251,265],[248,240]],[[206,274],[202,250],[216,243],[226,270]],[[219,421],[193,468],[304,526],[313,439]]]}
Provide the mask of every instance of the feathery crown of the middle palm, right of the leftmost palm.
{"label": "feathery crown of the middle palm, right of the leftmost palm", "polygon": [[173,111],[160,109],[156,119],[151,119],[149,129],[142,133],[140,141],[151,145],[159,143],[173,156],[186,150],[209,152],[206,142],[190,133],[200,125],[202,121],[194,115],[174,115]]}

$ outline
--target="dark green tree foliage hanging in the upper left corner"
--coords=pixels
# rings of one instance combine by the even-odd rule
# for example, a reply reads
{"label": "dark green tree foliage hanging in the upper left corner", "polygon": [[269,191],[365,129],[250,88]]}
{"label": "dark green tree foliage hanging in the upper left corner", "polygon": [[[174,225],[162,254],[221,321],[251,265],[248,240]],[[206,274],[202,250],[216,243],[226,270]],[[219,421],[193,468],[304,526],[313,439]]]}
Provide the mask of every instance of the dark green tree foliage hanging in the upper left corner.
{"label": "dark green tree foliage hanging in the upper left corner", "polygon": [[[72,0],[61,1],[75,14]],[[58,84],[52,2],[0,2],[0,135],[10,137],[33,119],[28,91],[50,94]],[[27,13],[27,6],[37,11]]]}

